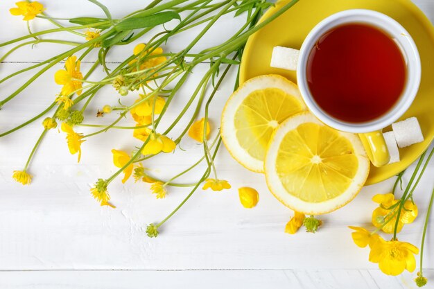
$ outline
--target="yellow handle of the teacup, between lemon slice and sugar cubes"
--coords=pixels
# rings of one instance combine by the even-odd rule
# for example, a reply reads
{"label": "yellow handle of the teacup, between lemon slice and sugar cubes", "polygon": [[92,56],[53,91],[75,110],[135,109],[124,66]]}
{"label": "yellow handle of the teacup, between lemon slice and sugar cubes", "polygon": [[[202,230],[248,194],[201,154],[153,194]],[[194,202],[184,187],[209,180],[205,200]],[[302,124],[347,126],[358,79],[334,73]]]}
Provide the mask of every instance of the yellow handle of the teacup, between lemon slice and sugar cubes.
{"label": "yellow handle of the teacup, between lemon slice and sugar cubes", "polygon": [[376,167],[385,166],[390,161],[388,146],[385,144],[381,130],[358,134],[372,164]]}

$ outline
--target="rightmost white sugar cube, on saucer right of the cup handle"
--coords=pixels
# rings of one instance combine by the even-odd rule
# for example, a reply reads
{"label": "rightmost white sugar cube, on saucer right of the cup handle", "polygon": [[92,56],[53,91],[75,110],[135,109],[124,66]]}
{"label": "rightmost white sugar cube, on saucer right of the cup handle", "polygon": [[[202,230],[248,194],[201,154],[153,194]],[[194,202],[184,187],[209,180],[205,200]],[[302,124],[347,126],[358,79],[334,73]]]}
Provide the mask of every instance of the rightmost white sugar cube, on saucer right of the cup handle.
{"label": "rightmost white sugar cube, on saucer right of the cup handle", "polygon": [[405,148],[406,146],[411,146],[413,143],[424,141],[419,122],[414,116],[397,123],[392,123],[392,130],[399,148]]}

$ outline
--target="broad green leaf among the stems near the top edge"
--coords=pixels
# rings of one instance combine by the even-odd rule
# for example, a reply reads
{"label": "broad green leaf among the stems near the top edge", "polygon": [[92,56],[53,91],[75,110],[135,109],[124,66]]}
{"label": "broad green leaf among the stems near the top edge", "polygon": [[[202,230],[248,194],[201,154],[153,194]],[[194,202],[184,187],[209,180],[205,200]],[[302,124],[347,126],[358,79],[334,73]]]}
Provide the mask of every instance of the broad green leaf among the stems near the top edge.
{"label": "broad green leaf among the stems near the top edge", "polygon": [[160,24],[164,24],[173,19],[181,20],[179,14],[173,11],[159,12],[154,15],[144,17],[130,17],[122,20],[114,28],[118,31],[133,30],[146,27],[155,27]]}

